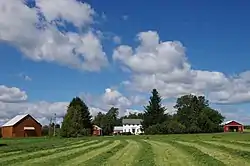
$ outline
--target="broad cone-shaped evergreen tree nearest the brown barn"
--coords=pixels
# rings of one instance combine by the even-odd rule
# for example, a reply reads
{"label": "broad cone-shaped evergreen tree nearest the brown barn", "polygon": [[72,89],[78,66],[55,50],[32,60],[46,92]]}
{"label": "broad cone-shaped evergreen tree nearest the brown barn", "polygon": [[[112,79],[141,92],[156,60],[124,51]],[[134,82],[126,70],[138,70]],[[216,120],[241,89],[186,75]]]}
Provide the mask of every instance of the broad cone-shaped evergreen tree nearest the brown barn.
{"label": "broad cone-shaped evergreen tree nearest the brown barn", "polygon": [[68,106],[67,113],[62,122],[62,137],[78,137],[90,135],[92,132],[91,115],[87,105],[75,97]]}

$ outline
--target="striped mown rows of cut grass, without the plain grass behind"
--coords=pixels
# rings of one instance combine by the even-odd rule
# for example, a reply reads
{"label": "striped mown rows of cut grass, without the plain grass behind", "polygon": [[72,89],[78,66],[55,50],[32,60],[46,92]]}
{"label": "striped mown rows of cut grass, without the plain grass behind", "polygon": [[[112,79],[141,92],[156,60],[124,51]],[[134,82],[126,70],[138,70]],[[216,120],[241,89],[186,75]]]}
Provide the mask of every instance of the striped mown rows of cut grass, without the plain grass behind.
{"label": "striped mown rows of cut grass, without the plain grass behind", "polygon": [[29,165],[103,165],[103,166],[207,166],[250,165],[247,141],[98,139],[70,140],[67,144],[33,151],[0,153],[1,164]]}

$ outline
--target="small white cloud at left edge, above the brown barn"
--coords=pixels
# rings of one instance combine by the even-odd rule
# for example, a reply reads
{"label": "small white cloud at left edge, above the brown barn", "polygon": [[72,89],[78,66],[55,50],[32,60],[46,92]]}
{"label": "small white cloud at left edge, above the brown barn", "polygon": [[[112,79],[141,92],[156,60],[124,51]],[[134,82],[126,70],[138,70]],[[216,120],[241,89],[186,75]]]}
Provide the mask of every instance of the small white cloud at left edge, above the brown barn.
{"label": "small white cloud at left edge, above the brown barn", "polygon": [[25,91],[16,87],[0,85],[0,102],[16,103],[26,101],[28,98]]}

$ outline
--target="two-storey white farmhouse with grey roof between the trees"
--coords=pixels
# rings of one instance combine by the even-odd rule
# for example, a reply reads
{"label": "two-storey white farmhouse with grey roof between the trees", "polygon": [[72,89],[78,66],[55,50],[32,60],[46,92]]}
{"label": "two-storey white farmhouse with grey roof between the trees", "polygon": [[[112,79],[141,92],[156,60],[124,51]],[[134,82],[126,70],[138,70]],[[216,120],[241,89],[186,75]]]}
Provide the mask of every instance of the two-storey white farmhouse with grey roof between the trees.
{"label": "two-storey white farmhouse with grey roof between the trees", "polygon": [[142,133],[142,119],[123,119],[122,127],[123,132],[131,132],[132,134],[138,135]]}

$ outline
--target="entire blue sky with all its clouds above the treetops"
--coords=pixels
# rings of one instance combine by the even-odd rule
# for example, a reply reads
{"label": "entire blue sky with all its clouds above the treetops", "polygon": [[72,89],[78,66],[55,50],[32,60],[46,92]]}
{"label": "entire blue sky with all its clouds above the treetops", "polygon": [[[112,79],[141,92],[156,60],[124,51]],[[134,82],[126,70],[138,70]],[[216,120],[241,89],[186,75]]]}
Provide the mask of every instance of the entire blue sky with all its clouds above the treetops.
{"label": "entire blue sky with all its clouds above the treetops", "polygon": [[0,124],[60,121],[79,96],[93,116],[143,111],[156,88],[168,113],[204,95],[250,124],[250,2],[0,0]]}

